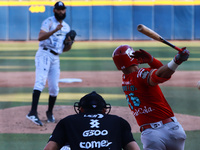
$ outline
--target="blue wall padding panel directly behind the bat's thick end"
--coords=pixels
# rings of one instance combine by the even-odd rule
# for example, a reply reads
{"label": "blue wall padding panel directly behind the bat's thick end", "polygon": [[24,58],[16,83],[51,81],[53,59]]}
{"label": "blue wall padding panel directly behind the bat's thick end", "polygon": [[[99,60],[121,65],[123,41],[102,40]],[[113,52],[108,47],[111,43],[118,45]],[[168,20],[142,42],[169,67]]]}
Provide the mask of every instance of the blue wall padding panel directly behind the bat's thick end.
{"label": "blue wall padding panel directly behind the bat's thick end", "polygon": [[133,39],[149,40],[149,37],[137,31],[139,24],[153,28],[153,6],[133,6]]}

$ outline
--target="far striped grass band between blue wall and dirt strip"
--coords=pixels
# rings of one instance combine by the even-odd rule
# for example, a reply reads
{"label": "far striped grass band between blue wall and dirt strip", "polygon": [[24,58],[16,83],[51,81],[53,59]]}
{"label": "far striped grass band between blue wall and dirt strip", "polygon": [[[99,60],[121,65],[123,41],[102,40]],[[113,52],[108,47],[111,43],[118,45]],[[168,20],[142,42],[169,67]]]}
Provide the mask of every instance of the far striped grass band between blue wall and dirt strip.
{"label": "far striped grass band between blue wall and dirt strip", "polygon": [[[112,53],[120,44],[127,43],[135,50],[145,49],[164,64],[177,53],[174,49],[155,41],[143,42],[75,42],[73,49],[60,55],[62,71],[116,70]],[[199,42],[174,42],[188,46],[189,60],[179,70],[200,70]],[[34,71],[34,56],[38,42],[0,42],[0,71]]]}

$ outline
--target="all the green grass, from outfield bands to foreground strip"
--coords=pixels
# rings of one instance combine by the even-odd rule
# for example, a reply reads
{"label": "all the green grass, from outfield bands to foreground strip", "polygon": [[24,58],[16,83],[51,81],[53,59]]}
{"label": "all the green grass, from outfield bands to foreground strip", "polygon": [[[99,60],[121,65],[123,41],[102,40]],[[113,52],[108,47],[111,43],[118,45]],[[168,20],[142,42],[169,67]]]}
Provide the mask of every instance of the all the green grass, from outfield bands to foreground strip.
{"label": "all the green grass, from outfield bands to foreground strip", "polygon": [[[197,65],[200,61],[199,41],[172,41],[172,43],[179,47],[186,46],[190,50],[189,60],[179,66],[178,70],[200,70],[200,65]],[[164,64],[177,53],[172,48],[156,41],[75,42],[71,51],[60,55],[61,70],[116,71],[112,52],[121,44],[129,44],[135,50],[144,49]],[[38,42],[0,42],[0,72],[34,71],[34,56],[37,49]],[[161,89],[175,113],[200,116],[198,108],[200,93],[196,88],[161,87]],[[112,106],[127,106],[121,87],[60,88],[56,104],[73,105],[79,100],[81,96],[79,93],[88,93],[91,90],[96,90],[105,96],[106,101]],[[0,109],[30,105],[31,93],[32,87],[0,87]],[[44,89],[40,105],[47,104],[47,96],[48,90]],[[186,133],[185,149],[198,150],[200,131]],[[0,134],[0,150],[43,149],[49,136],[50,134]],[[140,133],[134,133],[134,137],[142,149]]]}

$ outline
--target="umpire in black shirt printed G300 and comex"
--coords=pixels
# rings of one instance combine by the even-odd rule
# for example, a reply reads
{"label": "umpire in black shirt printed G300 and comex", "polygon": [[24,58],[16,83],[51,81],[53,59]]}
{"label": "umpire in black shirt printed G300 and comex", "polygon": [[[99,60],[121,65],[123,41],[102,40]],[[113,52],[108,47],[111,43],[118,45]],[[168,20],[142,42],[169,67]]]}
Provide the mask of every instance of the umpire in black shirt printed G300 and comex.
{"label": "umpire in black shirt printed G300 and comex", "polygon": [[110,115],[110,109],[95,91],[85,95],[74,103],[77,114],[58,122],[44,150],[59,150],[66,143],[71,150],[140,150],[129,123]]}

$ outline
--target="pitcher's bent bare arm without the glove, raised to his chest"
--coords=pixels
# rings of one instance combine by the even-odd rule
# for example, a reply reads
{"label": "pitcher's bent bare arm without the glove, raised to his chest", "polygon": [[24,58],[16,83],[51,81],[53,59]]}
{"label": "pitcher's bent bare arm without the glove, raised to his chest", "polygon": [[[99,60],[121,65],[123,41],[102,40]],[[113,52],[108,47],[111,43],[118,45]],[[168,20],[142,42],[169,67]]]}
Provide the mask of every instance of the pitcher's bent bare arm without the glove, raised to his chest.
{"label": "pitcher's bent bare arm without the glove, raised to his chest", "polygon": [[39,32],[39,37],[38,37],[38,41],[43,41],[48,39],[51,35],[53,35],[55,32],[57,32],[58,30],[60,30],[63,27],[62,24],[57,25],[57,27],[49,32],[46,32],[44,30],[40,30]]}

